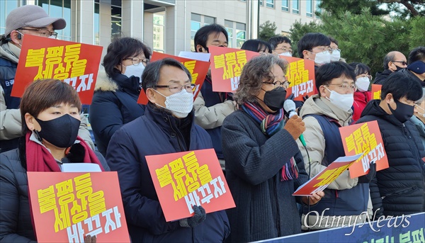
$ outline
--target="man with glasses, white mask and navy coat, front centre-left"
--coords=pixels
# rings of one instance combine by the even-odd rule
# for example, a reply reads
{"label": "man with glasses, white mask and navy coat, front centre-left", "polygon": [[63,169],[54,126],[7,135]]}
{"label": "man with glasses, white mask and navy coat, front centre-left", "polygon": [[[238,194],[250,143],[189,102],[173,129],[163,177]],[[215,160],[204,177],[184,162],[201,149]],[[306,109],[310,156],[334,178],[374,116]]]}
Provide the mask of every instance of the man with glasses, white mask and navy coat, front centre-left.
{"label": "man with glasses, white mask and navy coat, front centre-left", "polygon": [[223,210],[207,215],[194,205],[193,217],[166,222],[145,158],[212,148],[208,133],[193,120],[191,73],[181,62],[165,58],[147,65],[142,79],[149,99],[145,114],[114,133],[106,154],[111,169],[118,171],[132,241],[222,242],[229,234]]}

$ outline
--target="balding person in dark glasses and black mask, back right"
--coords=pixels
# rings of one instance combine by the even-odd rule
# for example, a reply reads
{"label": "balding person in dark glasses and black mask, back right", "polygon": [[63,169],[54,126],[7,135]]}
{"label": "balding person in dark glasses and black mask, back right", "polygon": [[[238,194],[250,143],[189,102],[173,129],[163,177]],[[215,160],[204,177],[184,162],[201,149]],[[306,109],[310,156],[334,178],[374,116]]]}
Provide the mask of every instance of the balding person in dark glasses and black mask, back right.
{"label": "balding person in dark glasses and black mask, back right", "polygon": [[388,75],[407,67],[406,56],[402,52],[388,52],[384,57],[384,71],[375,74],[374,84],[383,84]]}

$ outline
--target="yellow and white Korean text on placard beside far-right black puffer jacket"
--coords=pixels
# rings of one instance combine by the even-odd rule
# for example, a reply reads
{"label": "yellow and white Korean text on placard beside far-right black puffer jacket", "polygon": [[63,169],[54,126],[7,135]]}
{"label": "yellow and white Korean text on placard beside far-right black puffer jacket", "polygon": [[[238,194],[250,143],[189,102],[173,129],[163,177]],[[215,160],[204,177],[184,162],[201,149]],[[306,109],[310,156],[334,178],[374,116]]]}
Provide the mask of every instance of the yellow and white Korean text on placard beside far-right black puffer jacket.
{"label": "yellow and white Korean text on placard beside far-right black puffer jacket", "polygon": [[375,133],[370,134],[368,123],[364,123],[361,128],[348,135],[346,144],[348,152],[353,150],[356,154],[363,152],[363,155],[359,158],[363,164],[363,171],[368,171],[370,162],[376,162],[385,155],[382,143],[377,144]]}

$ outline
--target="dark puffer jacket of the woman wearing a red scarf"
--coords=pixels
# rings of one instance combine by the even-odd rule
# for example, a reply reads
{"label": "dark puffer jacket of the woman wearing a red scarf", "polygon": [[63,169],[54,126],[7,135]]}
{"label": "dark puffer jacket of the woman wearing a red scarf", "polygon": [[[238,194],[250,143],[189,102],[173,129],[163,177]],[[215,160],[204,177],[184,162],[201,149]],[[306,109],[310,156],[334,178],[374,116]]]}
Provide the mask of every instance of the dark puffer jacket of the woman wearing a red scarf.
{"label": "dark puffer jacket of the woman wearing a red scarf", "polygon": [[[22,142],[19,149],[25,151]],[[0,242],[35,242],[26,163],[21,163],[19,149],[0,154]],[[105,158],[95,153],[103,169],[110,171]]]}

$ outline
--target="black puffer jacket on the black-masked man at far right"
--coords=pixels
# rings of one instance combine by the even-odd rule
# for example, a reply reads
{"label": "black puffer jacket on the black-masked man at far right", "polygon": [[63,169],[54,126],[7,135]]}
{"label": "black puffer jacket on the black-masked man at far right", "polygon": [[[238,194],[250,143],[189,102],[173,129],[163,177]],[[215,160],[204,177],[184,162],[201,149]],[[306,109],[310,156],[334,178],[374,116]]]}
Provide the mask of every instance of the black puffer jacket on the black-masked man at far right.
{"label": "black puffer jacket on the black-masked man at far right", "polygon": [[363,110],[357,123],[378,120],[389,168],[377,171],[370,183],[373,210],[384,215],[407,215],[424,212],[424,147],[419,132],[407,120],[400,123],[373,100]]}

